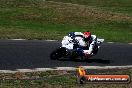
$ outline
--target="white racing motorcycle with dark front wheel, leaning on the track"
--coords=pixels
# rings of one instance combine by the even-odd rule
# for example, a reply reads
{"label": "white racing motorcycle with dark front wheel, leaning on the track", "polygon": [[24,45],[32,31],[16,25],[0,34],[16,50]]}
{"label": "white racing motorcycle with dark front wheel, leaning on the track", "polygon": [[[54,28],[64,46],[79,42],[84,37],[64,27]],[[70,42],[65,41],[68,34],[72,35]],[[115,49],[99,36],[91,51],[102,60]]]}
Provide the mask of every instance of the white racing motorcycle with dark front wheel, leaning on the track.
{"label": "white racing motorcycle with dark front wheel, leaning on the track", "polygon": [[[75,58],[80,57],[81,59],[86,59],[89,57],[86,57],[83,53],[82,53],[82,46],[80,47],[80,43],[77,40],[81,40],[82,37],[76,37],[75,40],[73,40],[71,37],[68,36],[64,36],[62,42],[61,42],[61,46],[57,49],[55,49],[53,52],[51,52],[50,54],[50,59],[51,60],[56,60],[56,59],[61,59],[61,58],[70,58],[75,60]],[[101,43],[104,42],[104,39],[99,39],[97,38],[97,42],[94,46],[93,52],[90,55],[94,56],[97,54],[98,49],[100,48]]]}

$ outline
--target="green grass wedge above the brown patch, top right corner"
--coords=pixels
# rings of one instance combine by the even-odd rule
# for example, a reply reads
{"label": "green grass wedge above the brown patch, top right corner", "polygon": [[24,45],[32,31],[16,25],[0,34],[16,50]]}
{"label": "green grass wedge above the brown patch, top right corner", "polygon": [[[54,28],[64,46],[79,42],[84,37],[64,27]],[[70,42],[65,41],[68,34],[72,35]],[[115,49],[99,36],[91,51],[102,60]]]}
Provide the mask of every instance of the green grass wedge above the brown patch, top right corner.
{"label": "green grass wedge above the brown patch, top right corner", "polygon": [[132,0],[48,0],[92,6],[102,10],[132,15]]}

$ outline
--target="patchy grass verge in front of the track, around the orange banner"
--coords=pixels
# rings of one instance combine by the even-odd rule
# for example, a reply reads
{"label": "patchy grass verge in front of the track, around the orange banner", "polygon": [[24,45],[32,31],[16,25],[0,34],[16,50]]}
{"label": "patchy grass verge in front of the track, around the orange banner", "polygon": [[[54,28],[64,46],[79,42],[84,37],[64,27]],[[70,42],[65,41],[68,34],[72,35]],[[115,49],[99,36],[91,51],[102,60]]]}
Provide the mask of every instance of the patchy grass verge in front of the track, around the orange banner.
{"label": "patchy grass verge in front of the track, around the orange banner", "polygon": [[[87,74],[124,74],[132,76],[132,69],[87,70]],[[0,73],[0,88],[131,88],[129,84],[77,84],[75,71],[46,71]]]}

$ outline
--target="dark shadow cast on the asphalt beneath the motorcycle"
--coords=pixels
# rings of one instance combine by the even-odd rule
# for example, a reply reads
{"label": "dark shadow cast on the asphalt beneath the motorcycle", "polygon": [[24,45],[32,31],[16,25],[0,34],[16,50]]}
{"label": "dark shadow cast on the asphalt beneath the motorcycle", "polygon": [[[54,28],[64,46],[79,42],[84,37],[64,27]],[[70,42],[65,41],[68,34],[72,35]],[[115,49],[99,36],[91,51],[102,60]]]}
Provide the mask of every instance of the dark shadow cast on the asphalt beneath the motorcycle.
{"label": "dark shadow cast on the asphalt beneath the motorcycle", "polygon": [[59,59],[59,61],[74,61],[74,62],[87,62],[87,63],[101,63],[101,64],[110,64],[110,60],[103,60],[100,58],[97,59],[86,59],[86,60],[80,60],[80,59]]}

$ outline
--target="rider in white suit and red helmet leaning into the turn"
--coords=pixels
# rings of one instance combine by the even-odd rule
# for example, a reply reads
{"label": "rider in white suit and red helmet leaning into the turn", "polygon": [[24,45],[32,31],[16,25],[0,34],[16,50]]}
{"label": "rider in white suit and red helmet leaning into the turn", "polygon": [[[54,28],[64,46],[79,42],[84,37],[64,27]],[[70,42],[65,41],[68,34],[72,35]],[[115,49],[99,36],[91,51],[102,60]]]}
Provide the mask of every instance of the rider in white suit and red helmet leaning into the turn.
{"label": "rider in white suit and red helmet leaning into the turn", "polygon": [[[78,36],[81,36],[82,39],[76,39],[76,37]],[[92,51],[97,42],[96,35],[91,35],[91,32],[89,31],[86,31],[84,33],[71,32],[69,33],[69,37],[71,37],[74,41],[78,41],[79,45],[81,46],[81,51],[83,54],[85,54],[85,56],[89,57],[93,54]]]}

